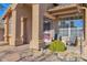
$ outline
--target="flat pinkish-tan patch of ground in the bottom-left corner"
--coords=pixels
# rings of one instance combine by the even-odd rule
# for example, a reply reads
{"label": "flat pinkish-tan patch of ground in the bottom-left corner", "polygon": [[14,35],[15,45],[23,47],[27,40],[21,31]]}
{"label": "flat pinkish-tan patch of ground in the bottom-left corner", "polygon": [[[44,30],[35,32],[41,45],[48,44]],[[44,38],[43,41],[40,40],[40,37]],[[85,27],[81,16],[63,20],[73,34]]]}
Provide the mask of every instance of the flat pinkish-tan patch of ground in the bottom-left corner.
{"label": "flat pinkish-tan patch of ground in the bottom-left corner", "polygon": [[12,53],[6,55],[1,61],[2,62],[17,62],[20,59],[20,55],[18,53]]}

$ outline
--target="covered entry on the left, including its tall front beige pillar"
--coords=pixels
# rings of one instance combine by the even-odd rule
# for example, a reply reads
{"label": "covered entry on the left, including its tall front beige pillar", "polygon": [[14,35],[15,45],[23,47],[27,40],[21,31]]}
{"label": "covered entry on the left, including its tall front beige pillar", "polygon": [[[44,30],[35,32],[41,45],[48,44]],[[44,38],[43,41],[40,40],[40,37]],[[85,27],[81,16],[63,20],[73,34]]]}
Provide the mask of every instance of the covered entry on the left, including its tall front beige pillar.
{"label": "covered entry on the left, including its tall front beige pillar", "polygon": [[30,48],[39,50],[39,39],[43,34],[41,33],[43,15],[40,12],[44,10],[41,11],[40,8],[41,6],[35,3],[14,3],[7,10],[2,18],[6,21],[4,41],[9,45],[29,43]]}

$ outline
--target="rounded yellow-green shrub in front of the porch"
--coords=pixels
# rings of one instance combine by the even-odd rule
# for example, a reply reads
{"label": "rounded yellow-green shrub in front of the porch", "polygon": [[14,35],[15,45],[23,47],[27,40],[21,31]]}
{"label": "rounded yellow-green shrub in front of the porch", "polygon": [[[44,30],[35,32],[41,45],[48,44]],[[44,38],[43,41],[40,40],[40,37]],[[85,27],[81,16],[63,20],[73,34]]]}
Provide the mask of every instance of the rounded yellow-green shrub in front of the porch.
{"label": "rounded yellow-green shrub in front of the porch", "polygon": [[62,41],[53,41],[50,44],[48,50],[51,50],[52,52],[64,52],[66,50],[66,46]]}

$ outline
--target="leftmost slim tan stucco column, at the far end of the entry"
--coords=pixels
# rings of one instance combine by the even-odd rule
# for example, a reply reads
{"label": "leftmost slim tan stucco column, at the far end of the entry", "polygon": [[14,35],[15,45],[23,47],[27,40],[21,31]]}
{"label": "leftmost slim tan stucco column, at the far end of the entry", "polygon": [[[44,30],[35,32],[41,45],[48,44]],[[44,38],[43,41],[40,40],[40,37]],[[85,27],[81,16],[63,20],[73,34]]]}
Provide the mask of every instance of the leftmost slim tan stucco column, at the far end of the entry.
{"label": "leftmost slim tan stucco column, at the far end of the entry", "polygon": [[9,43],[9,17],[4,20],[4,42]]}

